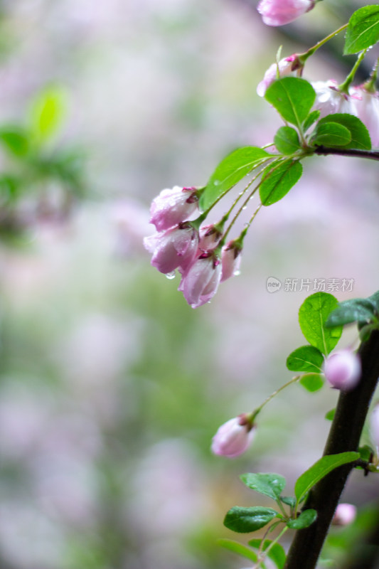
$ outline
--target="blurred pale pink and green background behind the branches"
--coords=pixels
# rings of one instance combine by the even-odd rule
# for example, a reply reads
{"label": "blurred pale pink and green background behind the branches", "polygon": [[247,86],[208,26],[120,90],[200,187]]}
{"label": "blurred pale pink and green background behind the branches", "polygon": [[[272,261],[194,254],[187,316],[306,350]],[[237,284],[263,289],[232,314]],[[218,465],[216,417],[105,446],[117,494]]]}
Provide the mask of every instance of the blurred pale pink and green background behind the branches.
{"label": "blurred pale pink and green background behind the branches", "polygon": [[[272,141],[279,117],[255,90],[278,46],[305,50],[364,4],[327,0],[277,29],[254,0],[1,1],[1,568],[242,567],[216,543],[235,537],[223,516],[266,502],[238,475],[279,472],[291,494],[320,457],[326,386],[284,391],[238,459],[210,440],[291,378],[305,344],[314,291],[272,294],[268,277],[353,279],[338,299],[378,289],[375,163],[309,159],[252,224],[240,276],[195,311],[142,238],[162,188],[201,186],[229,151]],[[341,46],[306,78],[343,80]],[[377,495],[356,472],[344,499]]]}

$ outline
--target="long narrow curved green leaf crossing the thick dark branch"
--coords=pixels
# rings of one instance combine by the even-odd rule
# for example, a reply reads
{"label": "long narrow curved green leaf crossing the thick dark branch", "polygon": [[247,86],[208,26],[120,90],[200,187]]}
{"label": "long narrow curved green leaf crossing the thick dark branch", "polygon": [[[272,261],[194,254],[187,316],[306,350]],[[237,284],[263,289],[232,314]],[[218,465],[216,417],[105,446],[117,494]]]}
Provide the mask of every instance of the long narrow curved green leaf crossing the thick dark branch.
{"label": "long narrow curved green leaf crossing the thick dark branch", "polygon": [[358,452],[341,452],[339,454],[329,454],[319,459],[297,479],[295,484],[295,496],[297,497],[297,501],[300,501],[314,484],[323,479],[326,474],[358,458]]}

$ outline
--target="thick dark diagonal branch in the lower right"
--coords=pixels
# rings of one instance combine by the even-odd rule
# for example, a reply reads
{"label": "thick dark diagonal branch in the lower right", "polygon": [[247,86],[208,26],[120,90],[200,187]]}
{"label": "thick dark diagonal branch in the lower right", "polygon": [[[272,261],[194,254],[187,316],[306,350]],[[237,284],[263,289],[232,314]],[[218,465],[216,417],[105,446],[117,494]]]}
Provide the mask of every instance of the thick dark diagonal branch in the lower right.
{"label": "thick dark diagonal branch in the lower right", "polygon": [[[379,331],[375,330],[359,350],[362,377],[357,387],[341,392],[336,415],[324,450],[326,454],[358,450],[361,432],[379,377]],[[289,548],[284,569],[314,569],[341,497],[351,464],[345,464],[323,478],[309,493],[304,509],[314,508],[317,519],[309,528],[297,531]]]}

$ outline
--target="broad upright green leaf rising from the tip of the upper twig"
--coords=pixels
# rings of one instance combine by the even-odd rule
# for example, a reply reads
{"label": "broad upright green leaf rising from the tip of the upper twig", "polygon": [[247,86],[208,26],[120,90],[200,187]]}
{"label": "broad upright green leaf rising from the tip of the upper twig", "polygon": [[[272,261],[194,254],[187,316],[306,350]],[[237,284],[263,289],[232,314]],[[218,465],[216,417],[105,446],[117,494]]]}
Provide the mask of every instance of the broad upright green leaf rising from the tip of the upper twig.
{"label": "broad upright green leaf rising from the tip of the upper twig", "polygon": [[305,79],[284,77],[269,85],[265,98],[285,121],[301,129],[314,104],[316,92]]}

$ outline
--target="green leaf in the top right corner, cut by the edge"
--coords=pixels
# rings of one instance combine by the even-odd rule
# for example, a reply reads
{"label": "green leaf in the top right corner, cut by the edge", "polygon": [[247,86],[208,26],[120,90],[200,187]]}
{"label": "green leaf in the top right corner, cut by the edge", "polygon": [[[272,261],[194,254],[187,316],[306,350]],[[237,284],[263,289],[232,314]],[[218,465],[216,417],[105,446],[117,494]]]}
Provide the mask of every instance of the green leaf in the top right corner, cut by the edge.
{"label": "green leaf in the top right corner, cut by the edge", "polygon": [[346,31],[344,55],[358,53],[379,40],[379,6],[363,6],[351,16]]}

